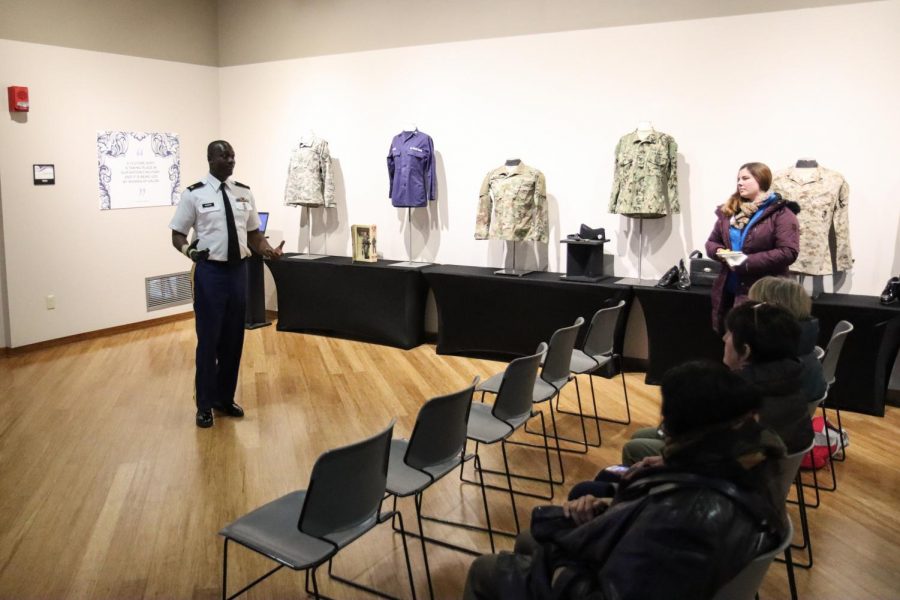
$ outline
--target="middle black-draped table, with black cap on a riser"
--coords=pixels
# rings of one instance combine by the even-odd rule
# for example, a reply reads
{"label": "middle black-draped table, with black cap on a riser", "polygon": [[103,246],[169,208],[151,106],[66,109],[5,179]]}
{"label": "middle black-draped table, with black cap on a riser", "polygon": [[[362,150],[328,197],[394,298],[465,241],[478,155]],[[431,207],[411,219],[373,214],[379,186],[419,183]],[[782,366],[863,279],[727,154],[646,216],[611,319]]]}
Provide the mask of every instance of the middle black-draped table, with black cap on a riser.
{"label": "middle black-draped table, with black cap on a riser", "polygon": [[[631,301],[629,286],[607,283],[612,279],[560,281],[560,273],[503,277],[494,275],[495,270],[457,265],[423,269],[437,304],[439,354],[530,354],[560,327],[578,317],[590,323],[599,309],[625,300],[626,312],[616,331],[615,348],[621,353]],[[586,332],[585,325],[577,344]]]}

